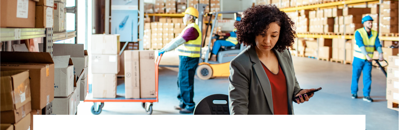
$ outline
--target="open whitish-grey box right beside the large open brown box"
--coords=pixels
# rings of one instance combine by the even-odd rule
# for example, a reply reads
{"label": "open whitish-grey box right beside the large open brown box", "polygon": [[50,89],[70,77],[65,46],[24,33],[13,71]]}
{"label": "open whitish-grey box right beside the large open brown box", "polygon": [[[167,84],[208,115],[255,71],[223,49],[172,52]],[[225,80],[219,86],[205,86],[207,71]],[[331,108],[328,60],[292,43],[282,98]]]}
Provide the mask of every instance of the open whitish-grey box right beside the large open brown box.
{"label": "open whitish-grey box right beside the large open brown box", "polygon": [[73,92],[73,63],[70,56],[53,56],[54,97],[68,97]]}

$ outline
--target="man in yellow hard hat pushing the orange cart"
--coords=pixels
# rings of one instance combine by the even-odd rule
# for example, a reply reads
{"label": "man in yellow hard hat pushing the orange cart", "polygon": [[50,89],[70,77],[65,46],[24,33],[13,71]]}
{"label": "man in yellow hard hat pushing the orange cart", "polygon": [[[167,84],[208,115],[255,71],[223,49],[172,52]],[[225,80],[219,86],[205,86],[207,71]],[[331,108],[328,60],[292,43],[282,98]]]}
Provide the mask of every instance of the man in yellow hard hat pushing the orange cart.
{"label": "man in yellow hard hat pushing the orange cart", "polygon": [[199,52],[201,49],[201,31],[195,20],[198,18],[198,10],[192,7],[186,9],[183,17],[184,25],[187,25],[179,36],[174,38],[164,48],[159,50],[158,55],[176,48],[179,55],[178,73],[178,96],[180,105],[175,109],[182,114],[193,113],[195,103],[194,97],[194,75],[198,67]]}

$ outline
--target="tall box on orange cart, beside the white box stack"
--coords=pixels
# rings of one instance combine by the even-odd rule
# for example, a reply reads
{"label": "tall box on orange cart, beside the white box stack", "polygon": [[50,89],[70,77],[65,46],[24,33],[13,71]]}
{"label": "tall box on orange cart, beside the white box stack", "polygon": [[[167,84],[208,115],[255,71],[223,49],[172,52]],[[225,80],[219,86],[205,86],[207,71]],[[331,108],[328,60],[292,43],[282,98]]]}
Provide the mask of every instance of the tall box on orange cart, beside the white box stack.
{"label": "tall box on orange cart, beside the white box stack", "polygon": [[[138,50],[125,52],[125,98],[140,98],[140,62]],[[143,66],[147,67],[147,66]]]}

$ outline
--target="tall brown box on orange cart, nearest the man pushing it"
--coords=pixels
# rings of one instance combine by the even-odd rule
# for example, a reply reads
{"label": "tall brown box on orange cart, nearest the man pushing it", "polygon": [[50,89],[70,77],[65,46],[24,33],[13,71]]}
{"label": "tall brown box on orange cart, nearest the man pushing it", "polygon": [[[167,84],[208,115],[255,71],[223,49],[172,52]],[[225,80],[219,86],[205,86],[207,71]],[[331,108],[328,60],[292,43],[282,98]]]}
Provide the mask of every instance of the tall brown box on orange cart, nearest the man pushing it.
{"label": "tall brown box on orange cart, nearest the man pushing it", "polygon": [[[142,50],[140,56],[140,98],[155,98],[154,50]],[[146,66],[146,67],[142,67]]]}

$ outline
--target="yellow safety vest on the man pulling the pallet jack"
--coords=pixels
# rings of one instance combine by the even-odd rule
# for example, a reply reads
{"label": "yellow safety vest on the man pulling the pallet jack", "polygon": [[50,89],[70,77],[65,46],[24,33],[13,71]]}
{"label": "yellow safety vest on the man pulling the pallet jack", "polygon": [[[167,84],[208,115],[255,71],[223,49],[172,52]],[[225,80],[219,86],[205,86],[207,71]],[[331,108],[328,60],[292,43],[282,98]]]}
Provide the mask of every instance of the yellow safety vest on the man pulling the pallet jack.
{"label": "yellow safety vest on the man pulling the pallet jack", "polygon": [[[357,29],[356,31],[359,31],[360,36],[363,39],[364,47],[366,48],[366,52],[372,58],[375,50],[375,39],[377,38],[377,31],[371,30],[372,36],[370,38],[368,37],[367,31],[364,29],[364,27]],[[354,45],[353,56],[363,60],[367,60],[366,56],[363,53],[361,53],[359,46],[356,44]]]}

